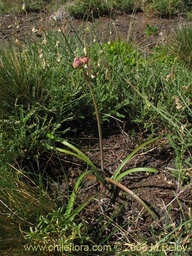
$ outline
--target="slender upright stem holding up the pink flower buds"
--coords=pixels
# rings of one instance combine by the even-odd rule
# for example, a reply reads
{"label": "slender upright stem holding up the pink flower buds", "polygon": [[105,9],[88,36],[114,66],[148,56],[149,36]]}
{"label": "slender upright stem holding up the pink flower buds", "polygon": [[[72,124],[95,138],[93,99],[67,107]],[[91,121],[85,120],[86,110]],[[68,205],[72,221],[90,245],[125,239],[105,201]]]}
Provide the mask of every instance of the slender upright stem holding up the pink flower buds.
{"label": "slender upright stem holding up the pink flower buds", "polygon": [[94,106],[95,106],[95,112],[96,112],[96,117],[97,117],[97,125],[98,125],[98,132],[99,132],[100,152],[101,152],[101,172],[102,172],[102,176],[104,177],[103,139],[102,139],[101,120],[100,120],[98,105],[97,105],[97,101],[96,101],[96,98],[95,98],[95,94],[94,94],[93,88],[91,86],[90,79],[89,79],[86,71],[84,70],[84,68],[82,69],[82,74],[83,74],[84,78],[86,79],[86,81],[89,84],[89,88],[90,88],[91,95],[92,95],[93,102],[94,102]]}

